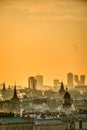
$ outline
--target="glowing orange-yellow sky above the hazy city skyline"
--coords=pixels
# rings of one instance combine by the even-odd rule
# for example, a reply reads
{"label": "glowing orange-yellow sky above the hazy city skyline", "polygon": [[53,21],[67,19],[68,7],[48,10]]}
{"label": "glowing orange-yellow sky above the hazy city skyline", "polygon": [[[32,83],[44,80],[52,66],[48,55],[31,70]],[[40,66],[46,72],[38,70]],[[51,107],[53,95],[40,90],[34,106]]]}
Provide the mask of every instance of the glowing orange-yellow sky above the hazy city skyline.
{"label": "glowing orange-yellow sky above the hazy city skyline", "polygon": [[0,0],[0,83],[87,75],[86,0]]}

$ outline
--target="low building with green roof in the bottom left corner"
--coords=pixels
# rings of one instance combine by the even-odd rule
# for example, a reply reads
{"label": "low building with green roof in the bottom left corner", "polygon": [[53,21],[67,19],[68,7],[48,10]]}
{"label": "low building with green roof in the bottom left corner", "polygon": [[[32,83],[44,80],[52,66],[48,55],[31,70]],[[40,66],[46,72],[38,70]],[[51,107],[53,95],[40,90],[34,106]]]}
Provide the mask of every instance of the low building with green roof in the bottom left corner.
{"label": "low building with green roof in the bottom left corner", "polygon": [[0,130],[33,130],[33,123],[19,117],[0,118]]}

